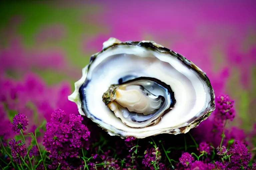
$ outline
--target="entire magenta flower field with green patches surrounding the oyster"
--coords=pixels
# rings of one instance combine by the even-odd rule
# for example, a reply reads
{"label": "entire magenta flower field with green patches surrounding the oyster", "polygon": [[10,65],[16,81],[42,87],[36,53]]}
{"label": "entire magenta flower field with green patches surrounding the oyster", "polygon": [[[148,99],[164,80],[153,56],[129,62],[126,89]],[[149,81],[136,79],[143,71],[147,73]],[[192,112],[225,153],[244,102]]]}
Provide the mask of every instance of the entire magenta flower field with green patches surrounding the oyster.
{"label": "entire magenta flower field with green patches surrounding the oyster", "polygon": [[[256,3],[196,2],[3,3],[0,169],[256,170]],[[143,139],[79,115],[67,96],[110,37],[187,57],[209,77],[216,110],[186,134]]]}

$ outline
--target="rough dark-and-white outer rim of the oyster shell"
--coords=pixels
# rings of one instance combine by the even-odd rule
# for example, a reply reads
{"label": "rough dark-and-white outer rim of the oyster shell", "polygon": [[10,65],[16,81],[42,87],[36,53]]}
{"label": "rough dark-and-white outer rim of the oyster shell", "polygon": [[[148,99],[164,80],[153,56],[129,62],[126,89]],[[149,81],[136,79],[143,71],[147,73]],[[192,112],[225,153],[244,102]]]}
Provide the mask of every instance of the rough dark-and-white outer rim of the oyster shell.
{"label": "rough dark-and-white outer rim of the oyster shell", "polygon": [[[77,104],[78,111],[79,111],[79,113],[81,115],[84,115],[84,116],[88,117],[89,119],[91,119],[99,127],[104,129],[105,131],[107,131],[111,136],[117,135],[117,136],[120,136],[121,138],[127,137],[126,135],[122,135],[121,133],[117,132],[117,130],[120,130],[120,129],[115,128],[115,127],[113,127],[113,126],[111,126],[111,125],[101,121],[101,124],[102,123],[103,124],[107,124],[110,127],[109,129],[104,128],[105,126],[103,126],[103,125],[101,125],[100,123],[97,122],[98,118],[94,117],[91,114],[87,114],[87,113],[83,112],[83,110],[82,110],[82,103],[81,103],[80,94],[79,94],[79,88],[81,87],[81,85],[86,80],[87,72],[88,72],[88,70],[90,68],[90,65],[94,62],[95,58],[99,54],[101,54],[104,51],[106,51],[107,49],[114,48],[114,47],[119,46],[119,45],[138,45],[138,46],[150,49],[150,50],[155,50],[155,51],[157,51],[159,53],[162,53],[162,54],[170,55],[170,57],[176,57],[176,59],[181,61],[188,68],[194,70],[206,82],[207,87],[209,89],[210,97],[211,97],[211,101],[208,104],[208,107],[206,108],[205,112],[201,116],[199,116],[197,119],[195,119],[194,121],[191,121],[188,125],[184,125],[184,126],[181,126],[179,128],[175,128],[175,129],[173,129],[173,128],[166,129],[166,130],[163,130],[161,132],[156,131],[156,132],[154,132],[154,133],[152,133],[151,135],[148,135],[148,136],[133,135],[134,137],[136,137],[136,138],[145,138],[145,137],[155,136],[155,135],[163,134],[163,133],[169,133],[169,134],[175,134],[175,135],[180,134],[180,133],[187,133],[190,129],[199,126],[199,124],[201,122],[203,122],[204,120],[206,120],[210,116],[210,114],[215,110],[215,94],[214,94],[214,90],[213,90],[213,87],[212,87],[212,85],[210,83],[209,78],[207,77],[207,75],[206,75],[206,73],[204,71],[202,71],[199,67],[197,67],[193,62],[188,60],[186,57],[184,57],[183,55],[181,55],[181,54],[179,54],[177,52],[174,52],[173,50],[171,50],[169,48],[166,48],[166,47],[164,47],[164,46],[162,46],[160,44],[157,44],[157,43],[155,43],[153,41],[127,41],[127,42],[121,42],[121,41],[119,41],[117,39],[115,39],[116,41],[113,41],[113,39],[115,39],[115,38],[110,38],[109,40],[111,40],[114,43],[112,43],[111,45],[109,44],[109,45],[103,46],[103,49],[101,51],[91,55],[89,64],[87,64],[82,69],[82,77],[81,77],[81,79],[78,80],[77,82],[75,82],[75,91],[70,96],[68,96],[68,99],[70,101],[73,101],[73,102],[75,102]],[[120,131],[123,131],[123,130],[120,130]]]}

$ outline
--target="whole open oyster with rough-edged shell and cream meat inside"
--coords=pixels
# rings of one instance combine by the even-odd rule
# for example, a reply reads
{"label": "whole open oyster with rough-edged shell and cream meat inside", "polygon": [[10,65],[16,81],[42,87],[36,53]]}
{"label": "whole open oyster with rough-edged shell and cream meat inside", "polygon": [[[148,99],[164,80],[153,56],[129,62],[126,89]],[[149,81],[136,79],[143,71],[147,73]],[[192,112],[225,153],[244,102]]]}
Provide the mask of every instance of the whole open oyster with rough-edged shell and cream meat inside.
{"label": "whole open oyster with rough-edged shell and cream meat inside", "polygon": [[186,133],[215,110],[206,74],[155,42],[110,38],[82,74],[68,98],[110,135]]}

